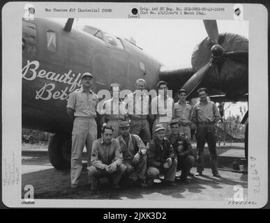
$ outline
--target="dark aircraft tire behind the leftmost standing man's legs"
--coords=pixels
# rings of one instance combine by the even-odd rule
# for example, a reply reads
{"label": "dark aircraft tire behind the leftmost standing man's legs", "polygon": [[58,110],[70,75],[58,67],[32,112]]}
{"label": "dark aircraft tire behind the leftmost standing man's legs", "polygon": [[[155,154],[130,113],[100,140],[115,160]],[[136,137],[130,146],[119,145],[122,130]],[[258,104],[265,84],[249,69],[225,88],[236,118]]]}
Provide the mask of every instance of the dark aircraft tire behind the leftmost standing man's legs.
{"label": "dark aircraft tire behind the leftmost standing man's legs", "polygon": [[48,148],[49,158],[55,169],[70,168],[71,137],[55,134]]}

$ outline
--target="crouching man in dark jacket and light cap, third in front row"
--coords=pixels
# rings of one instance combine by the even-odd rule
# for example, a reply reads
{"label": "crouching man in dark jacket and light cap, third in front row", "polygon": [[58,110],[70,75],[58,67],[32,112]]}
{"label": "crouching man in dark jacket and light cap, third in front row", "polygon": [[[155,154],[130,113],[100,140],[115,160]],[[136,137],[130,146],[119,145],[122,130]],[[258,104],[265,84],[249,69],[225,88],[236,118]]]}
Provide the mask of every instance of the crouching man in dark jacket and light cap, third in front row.
{"label": "crouching man in dark jacket and light cap, third in front row", "polygon": [[158,178],[160,173],[164,174],[163,183],[175,186],[175,174],[177,171],[177,158],[169,139],[165,138],[165,128],[158,124],[155,126],[156,138],[152,139],[148,153],[147,183],[153,185],[153,180]]}

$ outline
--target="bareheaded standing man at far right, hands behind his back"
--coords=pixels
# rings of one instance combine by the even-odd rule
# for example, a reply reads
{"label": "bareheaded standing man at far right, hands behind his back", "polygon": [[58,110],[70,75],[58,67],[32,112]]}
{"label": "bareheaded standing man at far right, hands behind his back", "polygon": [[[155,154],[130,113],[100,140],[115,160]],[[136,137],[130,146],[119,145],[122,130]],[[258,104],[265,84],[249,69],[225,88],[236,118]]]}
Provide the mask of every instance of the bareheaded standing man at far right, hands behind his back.
{"label": "bareheaded standing man at far right, hands behind his back", "polygon": [[215,130],[215,124],[220,120],[220,114],[215,103],[207,100],[207,89],[199,89],[197,93],[200,102],[194,106],[192,114],[192,122],[197,125],[197,173],[195,176],[202,176],[204,170],[204,144],[207,142],[211,155],[213,176],[220,177],[220,174],[218,174]]}

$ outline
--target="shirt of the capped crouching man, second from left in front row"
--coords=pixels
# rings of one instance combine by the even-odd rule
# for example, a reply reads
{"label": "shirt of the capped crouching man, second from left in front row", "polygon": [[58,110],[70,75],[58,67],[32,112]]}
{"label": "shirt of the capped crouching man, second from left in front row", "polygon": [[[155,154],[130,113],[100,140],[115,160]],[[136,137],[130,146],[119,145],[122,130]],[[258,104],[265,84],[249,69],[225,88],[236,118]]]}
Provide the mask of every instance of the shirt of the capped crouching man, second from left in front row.
{"label": "shirt of the capped crouching man, second from left in front row", "polygon": [[133,134],[133,137],[131,136],[131,134],[129,134],[128,145],[126,145],[126,141],[120,135],[119,137],[117,137],[117,140],[119,141],[120,148],[123,153],[123,161],[133,159],[133,157],[138,152],[138,151],[135,151],[135,148],[133,147],[133,141],[132,141],[133,139],[135,139],[134,144],[137,145],[138,151],[142,151],[142,150],[145,150],[145,152],[147,151],[147,148],[144,146],[142,139],[136,134]]}

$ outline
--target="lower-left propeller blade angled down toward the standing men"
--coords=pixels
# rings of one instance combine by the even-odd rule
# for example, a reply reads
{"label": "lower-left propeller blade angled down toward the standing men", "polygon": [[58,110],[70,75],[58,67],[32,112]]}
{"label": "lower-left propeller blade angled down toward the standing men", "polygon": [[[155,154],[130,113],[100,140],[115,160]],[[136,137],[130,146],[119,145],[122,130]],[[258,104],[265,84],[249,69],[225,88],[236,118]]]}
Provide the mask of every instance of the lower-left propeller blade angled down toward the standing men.
{"label": "lower-left propeller blade angled down toward the standing men", "polygon": [[187,96],[190,95],[194,91],[194,89],[202,82],[202,79],[204,79],[205,75],[207,74],[207,71],[209,68],[211,68],[213,58],[211,57],[209,62],[204,65],[200,70],[195,72],[195,74],[188,79],[186,84],[184,84],[181,89],[185,89],[187,91]]}

